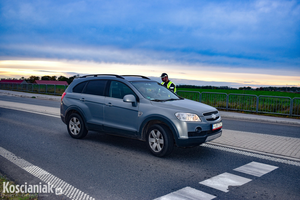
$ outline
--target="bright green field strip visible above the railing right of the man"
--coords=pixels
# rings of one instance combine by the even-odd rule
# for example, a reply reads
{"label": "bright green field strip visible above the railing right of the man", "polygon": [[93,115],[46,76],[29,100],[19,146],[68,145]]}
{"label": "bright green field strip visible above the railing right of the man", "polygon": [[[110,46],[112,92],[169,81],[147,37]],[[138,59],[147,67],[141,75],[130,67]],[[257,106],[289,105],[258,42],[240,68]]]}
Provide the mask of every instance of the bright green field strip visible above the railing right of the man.
{"label": "bright green field strip visible above the railing right of the man", "polygon": [[275,91],[256,91],[256,90],[231,90],[231,89],[187,89],[187,88],[176,88],[177,91],[194,91],[194,92],[215,92],[215,93],[226,93],[226,94],[247,94],[256,96],[283,96],[290,98],[300,98],[300,93],[293,92],[275,92]]}

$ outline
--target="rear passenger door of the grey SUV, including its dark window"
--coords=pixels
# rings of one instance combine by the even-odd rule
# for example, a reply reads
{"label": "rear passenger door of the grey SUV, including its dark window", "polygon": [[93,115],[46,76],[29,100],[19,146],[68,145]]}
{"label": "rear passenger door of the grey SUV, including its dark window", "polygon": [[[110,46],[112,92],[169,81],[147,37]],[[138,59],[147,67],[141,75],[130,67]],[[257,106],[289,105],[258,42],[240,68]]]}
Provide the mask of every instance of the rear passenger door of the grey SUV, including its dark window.
{"label": "rear passenger door of the grey SUV, including its dark window", "polygon": [[107,80],[90,80],[79,97],[78,108],[84,113],[89,128],[102,129],[106,83]]}

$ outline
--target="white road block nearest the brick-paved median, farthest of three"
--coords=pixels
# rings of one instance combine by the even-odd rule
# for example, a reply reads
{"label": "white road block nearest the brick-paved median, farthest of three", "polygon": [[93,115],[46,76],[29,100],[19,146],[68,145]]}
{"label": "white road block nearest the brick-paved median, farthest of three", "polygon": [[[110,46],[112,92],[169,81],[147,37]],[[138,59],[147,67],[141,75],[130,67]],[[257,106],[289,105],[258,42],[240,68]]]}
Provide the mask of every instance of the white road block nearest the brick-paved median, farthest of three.
{"label": "white road block nearest the brick-paved median, farthest of three", "polygon": [[262,164],[259,162],[250,162],[247,165],[243,165],[241,167],[235,168],[234,170],[260,177],[277,168],[278,167]]}

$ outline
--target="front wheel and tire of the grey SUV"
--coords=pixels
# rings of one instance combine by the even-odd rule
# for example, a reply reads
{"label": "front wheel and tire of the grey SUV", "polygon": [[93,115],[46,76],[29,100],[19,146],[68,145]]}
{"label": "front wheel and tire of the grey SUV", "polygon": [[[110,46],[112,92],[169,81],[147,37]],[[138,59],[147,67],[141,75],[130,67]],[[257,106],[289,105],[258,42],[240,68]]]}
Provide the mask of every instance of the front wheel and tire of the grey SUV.
{"label": "front wheel and tire of the grey SUV", "polygon": [[174,147],[170,129],[164,124],[150,126],[146,135],[146,145],[150,152],[157,157],[169,155]]}

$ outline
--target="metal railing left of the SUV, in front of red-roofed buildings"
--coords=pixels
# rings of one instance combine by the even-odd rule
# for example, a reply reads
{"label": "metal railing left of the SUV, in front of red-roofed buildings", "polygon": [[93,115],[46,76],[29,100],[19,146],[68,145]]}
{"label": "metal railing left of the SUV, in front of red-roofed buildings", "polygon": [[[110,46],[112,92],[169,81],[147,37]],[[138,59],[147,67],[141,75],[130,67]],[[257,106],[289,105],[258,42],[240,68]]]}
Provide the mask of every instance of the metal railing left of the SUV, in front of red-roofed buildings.
{"label": "metal railing left of the SUV, in front of red-roofed buildings", "polygon": [[37,92],[46,94],[62,94],[67,85],[33,84],[33,83],[7,83],[1,82],[0,89],[11,89],[23,92]]}

